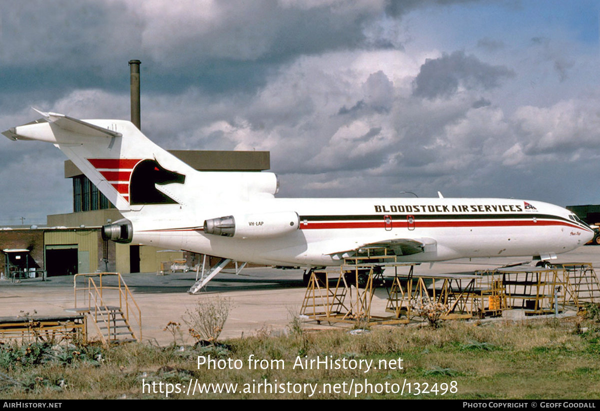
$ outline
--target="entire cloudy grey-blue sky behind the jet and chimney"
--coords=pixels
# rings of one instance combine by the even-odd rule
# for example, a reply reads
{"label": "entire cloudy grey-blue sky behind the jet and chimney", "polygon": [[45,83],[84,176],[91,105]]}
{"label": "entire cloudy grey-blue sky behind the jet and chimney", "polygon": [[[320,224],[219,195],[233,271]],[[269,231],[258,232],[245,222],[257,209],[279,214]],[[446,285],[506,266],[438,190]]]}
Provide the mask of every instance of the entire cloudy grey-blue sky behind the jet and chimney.
{"label": "entire cloudy grey-blue sky behind the jet and chimney", "polygon": [[[280,197],[600,203],[599,3],[0,3],[0,128],[31,106],[167,149],[269,150]],[[0,139],[0,224],[72,211],[64,156]],[[410,196],[409,196],[410,197]]]}

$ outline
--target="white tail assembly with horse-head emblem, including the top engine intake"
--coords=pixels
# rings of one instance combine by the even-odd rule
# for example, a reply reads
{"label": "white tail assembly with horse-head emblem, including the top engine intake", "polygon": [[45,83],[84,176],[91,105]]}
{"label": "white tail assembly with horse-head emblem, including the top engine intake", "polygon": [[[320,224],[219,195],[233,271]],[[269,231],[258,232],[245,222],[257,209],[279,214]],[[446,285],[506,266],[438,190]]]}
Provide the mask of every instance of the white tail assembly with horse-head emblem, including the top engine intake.
{"label": "white tail assembly with horse-head emblem, including the top engine intake", "polygon": [[[244,201],[272,198],[277,192],[274,173],[194,170],[126,120],[78,120],[36,111],[43,119],[2,134],[54,144],[120,211],[169,204],[198,210],[207,199]],[[162,208],[158,212],[164,214]]]}

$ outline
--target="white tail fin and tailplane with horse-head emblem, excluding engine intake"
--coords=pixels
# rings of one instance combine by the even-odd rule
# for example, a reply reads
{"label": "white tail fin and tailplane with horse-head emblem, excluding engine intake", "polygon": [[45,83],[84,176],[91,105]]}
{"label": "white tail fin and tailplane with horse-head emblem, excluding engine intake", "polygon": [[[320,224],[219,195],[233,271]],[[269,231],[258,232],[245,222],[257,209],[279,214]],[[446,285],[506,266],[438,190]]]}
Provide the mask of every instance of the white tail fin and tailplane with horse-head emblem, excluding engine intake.
{"label": "white tail fin and tailplane with horse-head emblem, excluding engine intake", "polygon": [[[34,109],[35,110],[35,109]],[[168,185],[185,183],[193,168],[125,120],[78,120],[35,110],[43,119],[2,134],[11,140],[52,143],[121,211],[145,204],[176,204]]]}

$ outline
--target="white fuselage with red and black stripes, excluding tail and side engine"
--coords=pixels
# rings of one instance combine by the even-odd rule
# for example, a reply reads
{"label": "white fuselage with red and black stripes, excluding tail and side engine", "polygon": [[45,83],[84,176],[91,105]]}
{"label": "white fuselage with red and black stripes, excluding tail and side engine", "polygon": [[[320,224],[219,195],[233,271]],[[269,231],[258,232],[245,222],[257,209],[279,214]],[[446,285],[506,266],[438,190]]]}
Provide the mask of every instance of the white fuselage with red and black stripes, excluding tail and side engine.
{"label": "white fuselage with red and black stripes, excluding tail and side engine", "polygon": [[[133,222],[134,243],[259,264],[338,265],[347,250],[404,238],[428,238],[436,246],[398,256],[399,261],[543,257],[568,252],[593,237],[592,229],[565,208],[495,198],[273,198],[225,203],[198,212],[179,205],[146,207],[154,210],[146,208],[143,219],[136,219],[134,212],[125,215]],[[269,238],[221,237],[202,229],[205,219],[277,211],[296,211],[299,229]]]}

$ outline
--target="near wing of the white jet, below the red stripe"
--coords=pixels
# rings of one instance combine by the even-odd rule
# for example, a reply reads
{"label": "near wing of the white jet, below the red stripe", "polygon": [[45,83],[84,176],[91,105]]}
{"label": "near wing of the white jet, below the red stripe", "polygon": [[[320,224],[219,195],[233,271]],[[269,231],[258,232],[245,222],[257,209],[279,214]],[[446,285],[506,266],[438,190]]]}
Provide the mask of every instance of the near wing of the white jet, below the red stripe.
{"label": "near wing of the white jet, below the red stripe", "polygon": [[434,238],[393,238],[391,240],[364,243],[352,250],[328,253],[334,259],[342,259],[355,255],[412,255],[417,253],[436,252],[437,241]]}

